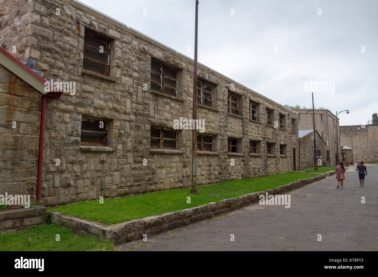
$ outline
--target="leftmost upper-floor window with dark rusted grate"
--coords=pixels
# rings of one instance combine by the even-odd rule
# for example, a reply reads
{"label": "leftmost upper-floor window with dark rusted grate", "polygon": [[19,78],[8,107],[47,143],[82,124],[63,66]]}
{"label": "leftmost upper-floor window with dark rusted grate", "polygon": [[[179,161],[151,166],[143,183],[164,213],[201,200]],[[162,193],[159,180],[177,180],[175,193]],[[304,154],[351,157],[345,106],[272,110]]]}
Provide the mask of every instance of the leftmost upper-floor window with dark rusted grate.
{"label": "leftmost upper-floor window with dark rusted grate", "polygon": [[110,40],[85,32],[83,69],[109,76]]}

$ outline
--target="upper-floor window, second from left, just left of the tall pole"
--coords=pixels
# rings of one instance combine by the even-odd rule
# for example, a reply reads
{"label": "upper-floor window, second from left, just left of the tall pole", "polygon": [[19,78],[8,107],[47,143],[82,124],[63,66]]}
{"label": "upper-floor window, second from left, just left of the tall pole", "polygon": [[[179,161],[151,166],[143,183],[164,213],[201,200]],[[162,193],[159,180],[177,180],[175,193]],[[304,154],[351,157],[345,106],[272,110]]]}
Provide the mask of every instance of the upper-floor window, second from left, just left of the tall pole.
{"label": "upper-floor window, second from left, just left of the tall pole", "polygon": [[151,90],[177,97],[177,70],[151,60]]}

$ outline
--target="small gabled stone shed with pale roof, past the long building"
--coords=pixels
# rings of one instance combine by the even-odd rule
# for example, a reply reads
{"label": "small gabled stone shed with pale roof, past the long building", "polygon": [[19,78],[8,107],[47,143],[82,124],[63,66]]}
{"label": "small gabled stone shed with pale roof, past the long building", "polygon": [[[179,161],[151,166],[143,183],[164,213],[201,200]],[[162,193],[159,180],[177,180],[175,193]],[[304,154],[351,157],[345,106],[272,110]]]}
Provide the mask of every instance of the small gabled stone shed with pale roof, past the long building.
{"label": "small gabled stone shed with pale roof, past the long building", "polygon": [[[316,131],[316,161],[318,166],[328,166],[327,164],[327,143],[322,139],[318,130]],[[301,161],[299,170],[314,167],[314,130],[299,130],[299,155]],[[319,162],[321,159],[321,162]]]}

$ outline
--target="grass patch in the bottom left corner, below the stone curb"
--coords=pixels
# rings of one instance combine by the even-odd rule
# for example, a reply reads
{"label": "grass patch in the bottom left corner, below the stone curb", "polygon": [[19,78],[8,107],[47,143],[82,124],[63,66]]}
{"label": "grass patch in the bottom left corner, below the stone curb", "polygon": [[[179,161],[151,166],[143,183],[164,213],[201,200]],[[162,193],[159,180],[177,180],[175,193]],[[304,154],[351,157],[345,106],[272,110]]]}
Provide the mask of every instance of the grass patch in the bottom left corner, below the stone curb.
{"label": "grass patch in the bottom left corner, below the stone curb", "polygon": [[[56,241],[59,234],[60,241]],[[38,225],[17,233],[0,234],[0,251],[111,251],[113,242],[78,236],[59,225]]]}

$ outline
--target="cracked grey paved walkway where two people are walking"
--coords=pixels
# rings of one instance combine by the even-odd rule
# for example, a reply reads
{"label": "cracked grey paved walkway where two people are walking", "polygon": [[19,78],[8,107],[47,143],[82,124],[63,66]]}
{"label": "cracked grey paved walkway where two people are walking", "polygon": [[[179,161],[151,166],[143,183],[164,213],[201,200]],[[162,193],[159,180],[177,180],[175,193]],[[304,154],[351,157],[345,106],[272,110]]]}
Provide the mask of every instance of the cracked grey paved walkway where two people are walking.
{"label": "cracked grey paved walkway where two people are walking", "polygon": [[[253,204],[229,214],[119,246],[130,251],[279,251],[378,249],[378,166],[368,165],[360,187],[355,167],[290,191],[291,207]],[[307,194],[308,196],[296,196]],[[361,197],[366,203],[361,204]],[[235,240],[230,241],[234,234]],[[321,234],[322,241],[318,241]],[[138,244],[149,246],[137,246]]]}

